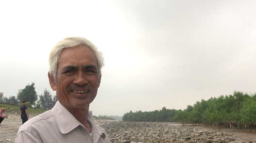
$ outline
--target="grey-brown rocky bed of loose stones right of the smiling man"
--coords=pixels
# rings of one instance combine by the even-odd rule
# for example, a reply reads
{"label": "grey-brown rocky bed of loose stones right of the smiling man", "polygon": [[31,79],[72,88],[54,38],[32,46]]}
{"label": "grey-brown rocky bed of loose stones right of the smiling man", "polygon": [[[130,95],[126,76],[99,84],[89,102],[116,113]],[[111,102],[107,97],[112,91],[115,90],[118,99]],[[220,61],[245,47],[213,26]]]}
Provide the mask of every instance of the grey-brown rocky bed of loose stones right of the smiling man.
{"label": "grey-brown rocky bed of loose stones right of the smiling man", "polygon": [[243,141],[243,137],[240,137],[238,141],[237,138],[233,137],[233,133],[193,127],[179,127],[168,123],[96,122],[106,130],[111,143],[253,143],[248,140]]}

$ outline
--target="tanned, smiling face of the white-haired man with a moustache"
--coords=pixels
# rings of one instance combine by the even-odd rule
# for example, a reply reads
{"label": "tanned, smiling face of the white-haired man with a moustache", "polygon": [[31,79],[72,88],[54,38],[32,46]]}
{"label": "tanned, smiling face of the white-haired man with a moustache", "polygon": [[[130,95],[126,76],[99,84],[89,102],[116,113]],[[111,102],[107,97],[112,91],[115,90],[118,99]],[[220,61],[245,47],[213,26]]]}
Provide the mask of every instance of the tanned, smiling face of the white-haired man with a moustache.
{"label": "tanned, smiling face of the white-haired man with a moustache", "polygon": [[50,81],[50,84],[65,108],[88,106],[96,97],[100,83],[97,59],[90,48],[75,46],[62,50],[57,67],[57,83]]}

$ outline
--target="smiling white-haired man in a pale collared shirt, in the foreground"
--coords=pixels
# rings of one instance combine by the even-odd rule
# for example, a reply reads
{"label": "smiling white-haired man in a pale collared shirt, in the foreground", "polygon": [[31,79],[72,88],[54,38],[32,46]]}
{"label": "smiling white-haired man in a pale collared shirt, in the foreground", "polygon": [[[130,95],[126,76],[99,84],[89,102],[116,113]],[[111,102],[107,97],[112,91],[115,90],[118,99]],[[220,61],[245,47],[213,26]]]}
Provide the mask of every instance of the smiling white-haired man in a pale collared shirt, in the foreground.
{"label": "smiling white-haired man in a pale collared shirt, in the foreground", "polygon": [[55,106],[18,130],[15,143],[110,143],[88,114],[101,83],[102,53],[81,37],[69,37],[51,50],[48,72]]}

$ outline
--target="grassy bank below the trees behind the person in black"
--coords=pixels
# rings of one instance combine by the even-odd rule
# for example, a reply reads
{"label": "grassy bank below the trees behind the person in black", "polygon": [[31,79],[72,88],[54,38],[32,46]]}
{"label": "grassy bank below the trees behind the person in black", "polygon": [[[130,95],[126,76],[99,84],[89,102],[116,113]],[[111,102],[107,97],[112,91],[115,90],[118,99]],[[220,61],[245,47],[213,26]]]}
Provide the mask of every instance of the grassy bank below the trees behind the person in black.
{"label": "grassy bank below the trees behind the person in black", "polygon": [[[0,108],[4,107],[5,113],[20,113],[20,106],[15,104],[8,104],[8,103],[0,103]],[[47,110],[42,110],[38,108],[31,108],[27,107],[29,114],[42,114]]]}

